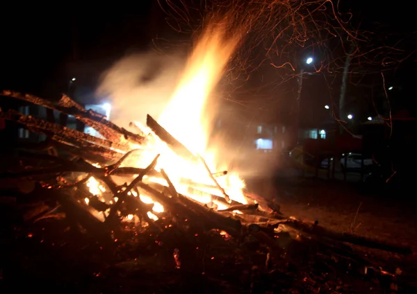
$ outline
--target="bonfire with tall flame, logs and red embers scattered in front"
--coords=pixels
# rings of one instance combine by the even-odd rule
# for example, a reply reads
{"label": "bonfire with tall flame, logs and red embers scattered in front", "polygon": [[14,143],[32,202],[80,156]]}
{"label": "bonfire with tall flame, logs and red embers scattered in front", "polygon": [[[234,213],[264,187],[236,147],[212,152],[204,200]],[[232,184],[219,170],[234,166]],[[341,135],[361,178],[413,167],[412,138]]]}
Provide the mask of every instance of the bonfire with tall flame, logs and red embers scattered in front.
{"label": "bonfire with tall flame, logs and red embers scattered in front", "polygon": [[[26,148],[19,152],[21,166],[1,174],[3,179],[19,179],[22,185],[35,183],[26,193],[33,196],[37,205],[24,214],[24,219],[32,224],[45,220],[65,221],[65,229],[52,234],[59,235],[69,229],[76,234],[71,235],[73,242],[78,238],[87,240],[84,245],[97,246],[88,251],[90,254],[117,250],[117,254],[128,256],[126,261],[134,260],[130,266],[138,267],[138,248],[142,248],[142,253],[149,253],[149,248],[153,248],[147,259],[142,257],[148,260],[145,268],[185,268],[188,273],[193,272],[186,276],[188,282],[202,281],[210,270],[211,275],[221,271],[224,279],[226,275],[233,280],[231,276],[237,275],[238,269],[237,279],[242,278],[252,293],[277,291],[277,288],[320,291],[320,287],[330,292],[332,288],[341,287],[338,282],[330,282],[325,274],[332,271],[332,266],[313,274],[308,266],[313,263],[306,261],[294,274],[291,264],[295,259],[286,251],[290,239],[311,241],[325,237],[322,239],[325,241],[315,243],[316,250],[322,255],[327,252],[329,258],[323,261],[325,264],[334,263],[334,252],[338,252],[338,264],[343,260],[343,272],[363,271],[365,262],[370,265],[347,250],[342,242],[409,253],[409,248],[400,245],[332,232],[320,227],[318,222],[302,222],[285,216],[275,200],[247,191],[238,172],[227,171],[227,162],[216,162],[216,152],[221,150],[207,149],[210,119],[206,106],[238,42],[238,37],[226,39],[219,29],[208,29],[190,55],[162,116],[154,119],[148,114],[146,125],[132,121],[130,130],[116,126],[101,114],[85,110],[65,95],[58,103],[52,103],[31,94],[4,91],[2,96],[46,107],[48,112],[55,110],[74,116],[100,134],[100,137],[93,137],[52,119],[46,121],[15,110],[1,112],[3,119],[15,121],[48,138],[30,151]],[[41,236],[41,232],[33,230],[31,225],[26,225],[24,237]],[[42,243],[45,238],[42,235],[38,241]],[[49,244],[58,243],[54,238],[49,238]],[[333,243],[329,244],[329,239],[333,239]],[[63,244],[68,242],[65,239]],[[135,253],[129,248],[135,248]],[[163,248],[165,253],[158,248]],[[292,248],[293,253],[301,250]],[[286,259],[287,253],[288,257],[292,256],[290,259]],[[73,258],[79,259],[81,255]],[[193,259],[199,261],[198,264]],[[277,263],[277,259],[281,262]],[[117,260],[118,267],[121,262]],[[106,266],[108,269],[108,264]],[[234,267],[236,270],[231,270]],[[292,282],[283,279],[286,273],[293,273],[288,278]],[[108,271],[107,275],[100,270],[91,274],[97,278],[113,277]],[[384,275],[395,276],[387,272]],[[267,276],[269,278],[265,279]],[[143,279],[141,283],[140,286],[146,284]],[[227,288],[224,283],[223,287]],[[238,291],[230,287],[222,291]],[[218,291],[218,288],[210,289]]]}

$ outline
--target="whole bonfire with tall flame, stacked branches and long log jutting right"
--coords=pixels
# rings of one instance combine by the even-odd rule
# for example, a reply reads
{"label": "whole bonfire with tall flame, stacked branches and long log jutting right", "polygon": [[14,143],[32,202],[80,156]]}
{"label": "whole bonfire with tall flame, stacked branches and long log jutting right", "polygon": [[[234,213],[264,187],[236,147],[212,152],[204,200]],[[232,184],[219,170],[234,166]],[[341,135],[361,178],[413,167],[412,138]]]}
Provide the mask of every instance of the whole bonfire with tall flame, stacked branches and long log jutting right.
{"label": "whole bonfire with tall flame, stacked branches and long log jutting right", "polygon": [[[158,121],[148,115],[146,126],[131,123],[134,132],[85,110],[65,95],[52,103],[30,94],[1,93],[46,108],[47,119],[15,110],[0,112],[0,118],[48,139],[26,146],[35,152],[19,153],[23,168],[0,178],[29,178],[40,183],[38,192],[58,202],[73,227],[81,225],[101,236],[115,232],[121,222],[135,227],[147,224],[155,230],[188,223],[186,227],[195,232],[218,229],[231,236],[256,224],[256,231],[272,236],[272,242],[269,237],[257,237],[272,245],[276,229],[291,227],[338,241],[409,252],[402,246],[282,216],[273,202],[247,193],[236,173],[227,173],[227,165],[215,162],[221,150],[207,149],[209,122],[215,114],[208,111],[208,98],[240,40],[240,34],[226,35],[224,28],[220,23],[205,27],[163,114]],[[115,101],[118,98],[122,97]],[[59,121],[54,112],[60,113]],[[68,116],[81,128],[67,128]],[[101,137],[86,134],[83,125],[94,128]],[[35,165],[38,167],[28,167]]]}

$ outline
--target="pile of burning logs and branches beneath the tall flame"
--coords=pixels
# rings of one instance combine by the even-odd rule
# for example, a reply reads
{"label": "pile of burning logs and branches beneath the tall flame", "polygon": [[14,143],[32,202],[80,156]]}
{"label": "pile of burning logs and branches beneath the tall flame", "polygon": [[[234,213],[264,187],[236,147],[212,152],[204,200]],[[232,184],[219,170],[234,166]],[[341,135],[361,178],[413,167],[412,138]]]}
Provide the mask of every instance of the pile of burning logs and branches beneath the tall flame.
{"label": "pile of burning logs and branches beneath the tall flame", "polygon": [[[133,134],[106,121],[100,114],[84,110],[67,96],[54,105],[17,92],[3,92],[3,95],[73,115],[95,126],[108,139],[119,138],[99,139],[15,110],[1,113],[5,119],[48,135],[50,139],[44,150],[50,154],[56,155],[59,148],[60,154],[74,156],[71,160],[33,153],[29,157],[38,157],[47,165],[3,176],[31,178],[47,191],[70,192],[72,197],[58,196],[58,202],[65,214],[78,215],[76,223],[86,229],[111,232],[120,222],[161,229],[164,222],[158,220],[170,218],[170,221],[192,220],[194,227],[217,228],[233,235],[240,234],[242,221],[274,220],[272,205],[247,193],[238,175],[213,171],[202,156],[188,150],[152,116],[147,116],[146,127],[134,123],[139,133]],[[106,165],[116,157],[113,164]]]}

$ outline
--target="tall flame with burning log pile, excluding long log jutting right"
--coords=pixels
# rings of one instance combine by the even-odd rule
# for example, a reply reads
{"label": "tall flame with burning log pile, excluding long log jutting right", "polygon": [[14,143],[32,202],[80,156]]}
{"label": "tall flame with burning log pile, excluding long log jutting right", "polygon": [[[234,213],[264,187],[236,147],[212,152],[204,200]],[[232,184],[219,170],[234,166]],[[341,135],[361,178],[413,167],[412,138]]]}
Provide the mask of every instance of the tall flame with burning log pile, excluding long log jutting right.
{"label": "tall flame with burning log pile, excluding long log jutting right", "polygon": [[[51,175],[52,182],[42,179],[46,188],[88,187],[90,193],[81,203],[106,225],[119,218],[132,223],[145,220],[151,225],[167,215],[186,214],[199,221],[204,214],[208,223],[216,219],[227,223],[223,219],[229,216],[256,223],[261,221],[260,215],[270,220],[274,210],[271,205],[245,193],[245,184],[238,175],[227,173],[224,171],[227,165],[215,162],[215,153],[220,150],[207,150],[209,121],[215,115],[215,111],[208,112],[208,98],[240,40],[238,33],[227,37],[225,28],[213,24],[204,30],[170,103],[158,118],[163,126],[148,115],[146,126],[132,122],[130,126],[135,131],[129,132],[106,117],[85,110],[65,95],[55,105],[31,95],[3,92],[5,96],[46,107],[48,119],[36,119],[13,110],[2,113],[3,118],[47,135],[47,149],[65,149],[77,157],[76,161],[51,157],[49,162],[58,164],[55,170],[26,172]],[[67,128],[63,121],[55,123],[54,111],[74,116],[97,130],[103,139],[81,129]],[[76,180],[70,179],[67,172],[72,172]]]}

